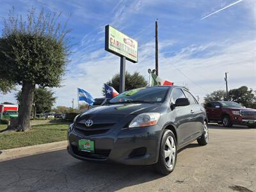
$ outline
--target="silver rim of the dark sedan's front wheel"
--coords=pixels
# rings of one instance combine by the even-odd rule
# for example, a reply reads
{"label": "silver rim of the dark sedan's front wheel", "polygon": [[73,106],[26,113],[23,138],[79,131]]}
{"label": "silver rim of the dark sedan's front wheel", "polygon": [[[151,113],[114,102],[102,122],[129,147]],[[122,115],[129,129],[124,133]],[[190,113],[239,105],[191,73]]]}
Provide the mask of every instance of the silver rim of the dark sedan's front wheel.
{"label": "silver rim of the dark sedan's front wheel", "polygon": [[168,136],[164,146],[164,159],[168,168],[174,168],[176,157],[176,145],[172,136]]}

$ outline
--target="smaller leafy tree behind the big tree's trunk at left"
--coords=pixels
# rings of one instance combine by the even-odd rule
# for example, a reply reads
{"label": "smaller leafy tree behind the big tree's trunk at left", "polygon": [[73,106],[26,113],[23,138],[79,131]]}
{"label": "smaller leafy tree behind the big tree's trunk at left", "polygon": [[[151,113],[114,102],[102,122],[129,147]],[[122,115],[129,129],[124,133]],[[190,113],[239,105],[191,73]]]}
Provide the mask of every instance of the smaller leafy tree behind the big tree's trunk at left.
{"label": "smaller leafy tree behind the big tree's trunk at left", "polygon": [[[33,102],[35,104],[36,113],[46,113],[51,111],[56,100],[56,97],[53,95],[54,92],[42,86],[35,88]],[[21,91],[16,94],[16,99],[17,102],[20,103]]]}

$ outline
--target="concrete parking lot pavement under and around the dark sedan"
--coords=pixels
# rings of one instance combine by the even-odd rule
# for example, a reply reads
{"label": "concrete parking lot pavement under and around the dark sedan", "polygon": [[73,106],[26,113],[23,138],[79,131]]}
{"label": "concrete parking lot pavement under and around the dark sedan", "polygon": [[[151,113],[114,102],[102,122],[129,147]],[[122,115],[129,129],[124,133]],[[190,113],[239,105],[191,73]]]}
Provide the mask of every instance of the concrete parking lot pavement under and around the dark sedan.
{"label": "concrete parking lot pavement under and around the dark sedan", "polygon": [[256,129],[209,128],[209,144],[180,150],[166,177],[151,166],[83,162],[60,150],[1,162],[1,191],[256,191]]}

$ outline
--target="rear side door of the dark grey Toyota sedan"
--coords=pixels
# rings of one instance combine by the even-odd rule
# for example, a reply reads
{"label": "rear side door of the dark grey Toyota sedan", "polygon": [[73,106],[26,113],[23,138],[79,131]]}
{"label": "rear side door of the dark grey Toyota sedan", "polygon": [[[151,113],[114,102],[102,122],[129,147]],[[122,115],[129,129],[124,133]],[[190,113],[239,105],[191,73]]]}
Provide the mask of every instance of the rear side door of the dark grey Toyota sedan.
{"label": "rear side door of the dark grey Toyota sedan", "polygon": [[190,102],[191,113],[193,114],[191,121],[193,122],[194,132],[191,135],[191,138],[198,138],[204,129],[204,109],[191,93],[189,93],[187,90],[184,90],[184,93]]}

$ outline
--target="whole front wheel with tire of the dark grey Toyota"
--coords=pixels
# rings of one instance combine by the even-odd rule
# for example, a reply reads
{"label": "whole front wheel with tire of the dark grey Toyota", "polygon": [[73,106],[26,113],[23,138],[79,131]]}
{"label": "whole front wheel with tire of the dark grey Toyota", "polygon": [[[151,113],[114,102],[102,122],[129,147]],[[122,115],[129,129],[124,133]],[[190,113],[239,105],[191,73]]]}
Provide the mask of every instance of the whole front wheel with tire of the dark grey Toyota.
{"label": "whole front wheel with tire of the dark grey Toyota", "polygon": [[159,157],[155,164],[155,169],[162,175],[168,175],[174,170],[176,161],[177,141],[173,132],[166,129],[162,136]]}

